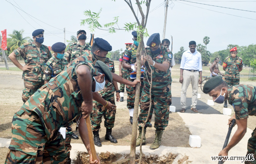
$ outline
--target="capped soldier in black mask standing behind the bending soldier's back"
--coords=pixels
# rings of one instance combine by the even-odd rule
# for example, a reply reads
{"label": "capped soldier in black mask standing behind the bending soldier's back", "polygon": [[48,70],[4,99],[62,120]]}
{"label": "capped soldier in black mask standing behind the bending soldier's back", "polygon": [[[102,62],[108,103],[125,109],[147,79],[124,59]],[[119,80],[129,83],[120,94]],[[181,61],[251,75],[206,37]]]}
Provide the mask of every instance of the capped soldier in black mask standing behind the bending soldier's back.
{"label": "capped soldier in black mask standing behind the bending soldier's back", "polygon": [[78,42],[70,44],[64,55],[69,63],[78,56],[83,55],[86,51],[91,50],[91,46],[85,43],[86,32],[84,30],[79,30],[76,34]]}

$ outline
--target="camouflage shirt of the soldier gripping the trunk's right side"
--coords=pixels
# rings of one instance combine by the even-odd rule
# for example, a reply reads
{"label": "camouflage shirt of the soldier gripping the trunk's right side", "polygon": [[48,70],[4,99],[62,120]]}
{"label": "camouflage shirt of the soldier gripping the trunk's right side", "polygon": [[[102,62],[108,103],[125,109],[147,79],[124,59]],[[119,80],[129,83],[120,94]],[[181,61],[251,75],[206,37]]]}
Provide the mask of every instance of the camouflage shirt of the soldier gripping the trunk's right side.
{"label": "camouflage shirt of the soldier gripping the trunk's right side", "polygon": [[[161,47],[161,51],[158,54],[153,54],[152,51],[150,50],[150,48],[146,48],[146,53],[147,55],[150,55],[152,57],[152,59],[156,62],[156,63],[163,63],[163,62],[168,62],[169,63],[169,67],[172,63],[172,52],[165,47]],[[158,69],[156,69],[153,66],[150,66],[148,64],[148,62],[145,63],[145,72],[144,72],[144,85],[145,86],[150,86],[148,81],[150,81],[150,67],[152,69],[152,89],[160,89],[160,90],[164,90],[167,86],[170,85],[171,83],[171,71],[170,69],[167,69],[166,72],[163,71],[159,71]],[[168,67],[168,68],[169,68]],[[148,79],[148,80],[147,80]]]}

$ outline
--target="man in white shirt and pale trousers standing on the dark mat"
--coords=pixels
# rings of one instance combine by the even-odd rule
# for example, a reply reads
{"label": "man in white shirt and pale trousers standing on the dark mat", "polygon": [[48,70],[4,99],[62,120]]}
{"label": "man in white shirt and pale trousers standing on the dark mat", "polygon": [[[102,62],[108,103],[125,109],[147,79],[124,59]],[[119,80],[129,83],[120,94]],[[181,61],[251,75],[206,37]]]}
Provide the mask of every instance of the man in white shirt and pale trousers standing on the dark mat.
{"label": "man in white shirt and pale trousers standing on the dark mat", "polygon": [[[200,75],[200,77],[199,77]],[[191,82],[192,85],[192,105],[191,110],[198,112],[196,109],[197,104],[197,90],[198,84],[202,83],[202,56],[196,50],[196,42],[189,42],[189,50],[182,54],[180,63],[180,83],[182,83],[180,112],[185,112],[186,109],[186,92]]]}

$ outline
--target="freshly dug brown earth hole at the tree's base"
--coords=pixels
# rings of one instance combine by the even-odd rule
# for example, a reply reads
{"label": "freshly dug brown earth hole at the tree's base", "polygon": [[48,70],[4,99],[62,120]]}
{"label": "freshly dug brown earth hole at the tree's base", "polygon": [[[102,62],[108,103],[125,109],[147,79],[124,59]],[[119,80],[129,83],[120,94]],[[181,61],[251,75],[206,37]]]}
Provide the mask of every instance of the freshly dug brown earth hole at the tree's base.
{"label": "freshly dug brown earth hole at the tree's base", "polygon": [[[120,153],[110,153],[110,152],[102,152],[99,155],[101,160],[101,164],[129,164],[129,154],[120,154]],[[151,155],[143,155],[142,164],[172,164],[174,159],[178,156],[178,154],[168,153],[163,156],[151,154]],[[185,156],[182,159],[178,160],[178,164],[190,163],[187,161],[188,157]],[[139,163],[139,155],[136,155],[135,163]],[[90,164],[89,163],[89,155],[87,152],[78,152],[76,159],[74,160],[74,164]]]}

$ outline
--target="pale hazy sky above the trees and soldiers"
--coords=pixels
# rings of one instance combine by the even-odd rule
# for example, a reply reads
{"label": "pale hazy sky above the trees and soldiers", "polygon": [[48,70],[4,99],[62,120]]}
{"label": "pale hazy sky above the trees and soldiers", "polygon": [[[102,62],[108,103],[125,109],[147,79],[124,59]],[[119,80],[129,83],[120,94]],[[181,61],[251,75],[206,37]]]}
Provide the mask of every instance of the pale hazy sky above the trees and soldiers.
{"label": "pale hazy sky above the trees and soldiers", "polygon": [[[135,2],[135,0],[132,1]],[[9,2],[33,17],[13,7]],[[25,30],[24,37],[32,37],[32,32],[35,29],[42,28],[45,30],[43,44],[46,46],[64,42],[64,27],[66,28],[66,40],[70,40],[71,35],[76,36],[76,31],[80,29],[84,29],[87,32],[87,37],[90,38],[91,32],[88,26],[80,26],[81,20],[87,18],[83,15],[83,11],[86,10],[98,12],[102,8],[99,18],[102,25],[112,22],[115,16],[119,16],[118,26],[120,28],[124,27],[124,23],[135,22],[131,9],[124,0],[116,0],[116,2],[112,0],[1,0],[0,5],[0,31],[7,29],[7,34],[11,34],[13,30],[23,29]],[[181,46],[187,50],[188,42],[191,40],[195,40],[197,44],[203,44],[204,36],[210,37],[210,43],[207,45],[210,52],[226,49],[228,44],[238,44],[239,46],[255,44],[255,6],[256,1],[253,0],[169,0],[165,38],[171,40],[171,35],[173,36],[173,53],[178,52]],[[137,12],[136,4],[133,4],[133,7]],[[145,6],[143,7],[146,9]],[[148,34],[158,32],[162,39],[165,15],[164,0],[152,0],[150,11],[147,23]],[[114,34],[95,30],[94,34],[95,38],[107,40],[112,45],[113,51],[120,48],[124,50],[124,43],[132,42],[131,32],[124,30]]]}

